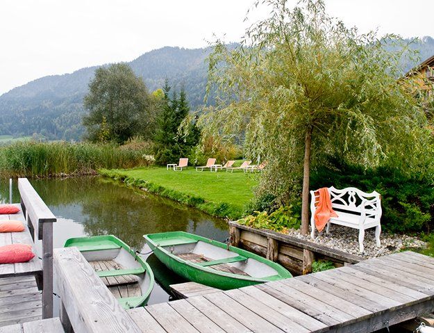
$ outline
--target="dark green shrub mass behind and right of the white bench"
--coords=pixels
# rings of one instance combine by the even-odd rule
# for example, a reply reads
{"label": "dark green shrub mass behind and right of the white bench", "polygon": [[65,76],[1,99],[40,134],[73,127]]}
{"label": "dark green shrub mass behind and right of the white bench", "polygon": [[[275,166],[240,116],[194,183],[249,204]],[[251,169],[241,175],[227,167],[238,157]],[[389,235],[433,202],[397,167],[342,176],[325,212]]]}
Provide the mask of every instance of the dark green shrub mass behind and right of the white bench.
{"label": "dark green shrub mass behind and right of the white bench", "polygon": [[331,160],[312,172],[310,188],[353,186],[381,194],[381,225],[389,232],[430,232],[434,227],[434,188],[425,179],[387,168],[367,169]]}

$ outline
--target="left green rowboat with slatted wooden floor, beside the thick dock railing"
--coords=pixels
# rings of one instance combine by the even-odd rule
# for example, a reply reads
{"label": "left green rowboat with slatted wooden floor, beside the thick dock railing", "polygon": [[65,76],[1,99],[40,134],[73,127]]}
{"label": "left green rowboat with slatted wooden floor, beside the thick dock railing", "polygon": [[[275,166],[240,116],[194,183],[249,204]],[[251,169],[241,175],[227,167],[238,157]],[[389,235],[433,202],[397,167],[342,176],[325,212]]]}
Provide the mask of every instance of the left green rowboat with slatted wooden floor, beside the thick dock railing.
{"label": "left green rowboat with slatted wooden floor, beside the thick dock railing", "polygon": [[72,246],[78,247],[124,309],[147,304],[154,285],[152,270],[126,243],[109,235],[69,238],[65,247]]}

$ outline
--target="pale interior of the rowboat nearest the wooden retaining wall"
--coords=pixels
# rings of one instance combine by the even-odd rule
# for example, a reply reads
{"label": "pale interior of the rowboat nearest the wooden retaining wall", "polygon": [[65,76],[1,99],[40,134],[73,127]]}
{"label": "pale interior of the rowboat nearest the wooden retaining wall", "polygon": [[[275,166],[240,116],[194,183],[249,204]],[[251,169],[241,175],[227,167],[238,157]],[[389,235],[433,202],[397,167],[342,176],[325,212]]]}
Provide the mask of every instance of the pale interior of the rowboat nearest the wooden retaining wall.
{"label": "pale interior of the rowboat nearest the wooden retaining wall", "polygon": [[226,273],[256,278],[278,275],[278,272],[266,263],[192,238],[162,247],[185,261]]}

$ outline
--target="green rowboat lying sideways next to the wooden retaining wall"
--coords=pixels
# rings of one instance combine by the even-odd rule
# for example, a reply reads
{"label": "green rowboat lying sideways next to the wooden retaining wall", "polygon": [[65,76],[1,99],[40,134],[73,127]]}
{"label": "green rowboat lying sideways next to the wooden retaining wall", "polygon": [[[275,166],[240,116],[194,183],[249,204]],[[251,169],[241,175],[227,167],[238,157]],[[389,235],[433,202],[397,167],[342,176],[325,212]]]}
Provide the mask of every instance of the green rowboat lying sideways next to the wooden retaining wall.
{"label": "green rowboat lying sideways next to the wooden retaining wall", "polygon": [[187,232],[144,235],[153,253],[185,279],[228,290],[292,277],[278,263]]}

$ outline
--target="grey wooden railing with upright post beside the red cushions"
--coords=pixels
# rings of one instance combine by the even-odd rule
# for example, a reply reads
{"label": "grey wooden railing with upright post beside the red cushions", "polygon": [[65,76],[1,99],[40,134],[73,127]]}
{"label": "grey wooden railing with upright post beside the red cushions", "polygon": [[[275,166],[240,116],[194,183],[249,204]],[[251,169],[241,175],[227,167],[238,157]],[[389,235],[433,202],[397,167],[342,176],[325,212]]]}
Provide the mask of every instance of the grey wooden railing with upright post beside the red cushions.
{"label": "grey wooden railing with upright post beside the red cushions", "polygon": [[56,216],[26,178],[18,179],[24,218],[33,241],[42,241],[42,318],[53,316],[53,222]]}

